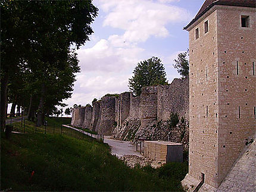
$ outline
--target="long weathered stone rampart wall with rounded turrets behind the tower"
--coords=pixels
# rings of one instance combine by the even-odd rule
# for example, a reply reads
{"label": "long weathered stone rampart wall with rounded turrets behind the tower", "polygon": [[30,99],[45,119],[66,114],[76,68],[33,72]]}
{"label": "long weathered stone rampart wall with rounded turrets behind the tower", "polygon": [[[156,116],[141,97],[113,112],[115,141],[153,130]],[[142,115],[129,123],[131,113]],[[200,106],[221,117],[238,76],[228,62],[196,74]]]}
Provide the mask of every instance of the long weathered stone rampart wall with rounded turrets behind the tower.
{"label": "long weathered stone rampart wall with rounded turrets behind the tower", "polygon": [[[93,102],[92,108],[84,108],[84,112],[74,109],[72,124],[79,127],[77,125],[81,124],[83,116],[81,125],[83,128],[101,134],[111,134],[116,139],[163,137],[165,140],[170,140],[169,133],[166,133],[166,136],[158,134],[156,128],[161,130],[160,125],[168,127],[162,124],[162,121],[167,121],[171,112],[188,119],[188,110],[189,80],[176,78],[165,86],[143,87],[140,96],[124,92],[119,96],[104,96],[101,100]],[[167,132],[166,128],[164,130]]]}

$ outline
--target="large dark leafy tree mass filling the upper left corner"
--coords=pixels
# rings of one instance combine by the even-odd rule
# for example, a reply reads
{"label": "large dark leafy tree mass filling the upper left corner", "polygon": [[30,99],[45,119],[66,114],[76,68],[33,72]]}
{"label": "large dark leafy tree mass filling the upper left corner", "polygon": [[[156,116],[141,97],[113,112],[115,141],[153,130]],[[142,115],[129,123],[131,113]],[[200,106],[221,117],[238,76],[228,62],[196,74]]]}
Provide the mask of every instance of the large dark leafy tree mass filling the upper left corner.
{"label": "large dark leafy tree mass filling the upper left corner", "polygon": [[[90,0],[1,1],[1,128],[5,127],[8,83],[19,71],[30,71],[36,77],[38,91],[36,96],[31,92],[27,97],[31,102],[26,103],[38,103],[38,125],[54,103],[58,105],[71,96],[73,74],[79,67],[70,46],[75,45],[78,49],[89,40],[93,33],[90,23],[97,12]],[[71,65],[73,68],[69,70]],[[57,92],[56,96],[49,91],[51,83],[54,78],[58,81],[61,75],[58,81],[61,87],[64,73],[68,73],[70,86],[65,84],[66,90]],[[62,93],[65,93],[63,97]],[[47,99],[51,103],[47,103]]]}

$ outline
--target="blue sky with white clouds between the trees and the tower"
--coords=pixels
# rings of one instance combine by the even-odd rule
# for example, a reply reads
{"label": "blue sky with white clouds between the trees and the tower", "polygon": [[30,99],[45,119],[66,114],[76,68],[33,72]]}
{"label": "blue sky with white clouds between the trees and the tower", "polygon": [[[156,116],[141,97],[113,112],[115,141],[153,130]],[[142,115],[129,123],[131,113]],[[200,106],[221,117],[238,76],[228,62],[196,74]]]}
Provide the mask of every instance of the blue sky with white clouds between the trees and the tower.
{"label": "blue sky with white clouds between the trees and the tower", "polygon": [[86,105],[107,93],[129,91],[128,79],[139,61],[157,56],[168,82],[179,78],[173,68],[177,53],[188,49],[183,27],[195,17],[203,0],[94,0],[99,14],[90,41],[78,51],[81,73],[73,95],[64,100]]}

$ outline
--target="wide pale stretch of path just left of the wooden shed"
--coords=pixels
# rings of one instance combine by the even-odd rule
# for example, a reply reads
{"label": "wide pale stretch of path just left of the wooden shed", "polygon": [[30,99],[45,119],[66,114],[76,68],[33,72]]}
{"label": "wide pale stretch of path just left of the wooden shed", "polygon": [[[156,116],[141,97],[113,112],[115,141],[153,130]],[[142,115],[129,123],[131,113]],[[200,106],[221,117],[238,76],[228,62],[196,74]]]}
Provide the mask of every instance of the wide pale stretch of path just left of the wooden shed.
{"label": "wide pale stretch of path just left of the wooden shed", "polygon": [[136,152],[136,146],[132,142],[110,139],[110,136],[104,136],[104,143],[108,143],[112,155],[137,155],[142,157],[141,153]]}

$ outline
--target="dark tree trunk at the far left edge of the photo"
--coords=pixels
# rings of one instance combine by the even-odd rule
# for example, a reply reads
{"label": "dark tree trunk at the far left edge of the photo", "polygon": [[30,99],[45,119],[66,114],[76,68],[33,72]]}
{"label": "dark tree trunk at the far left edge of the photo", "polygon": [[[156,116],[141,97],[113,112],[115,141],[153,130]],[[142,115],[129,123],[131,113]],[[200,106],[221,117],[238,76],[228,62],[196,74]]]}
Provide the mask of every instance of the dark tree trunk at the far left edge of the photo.
{"label": "dark tree trunk at the far left edge of the photo", "polygon": [[1,79],[1,129],[4,130],[5,128],[5,120],[6,120],[6,104],[7,104],[7,84],[9,81],[9,75],[5,74],[4,77]]}

